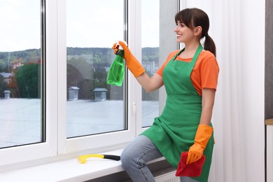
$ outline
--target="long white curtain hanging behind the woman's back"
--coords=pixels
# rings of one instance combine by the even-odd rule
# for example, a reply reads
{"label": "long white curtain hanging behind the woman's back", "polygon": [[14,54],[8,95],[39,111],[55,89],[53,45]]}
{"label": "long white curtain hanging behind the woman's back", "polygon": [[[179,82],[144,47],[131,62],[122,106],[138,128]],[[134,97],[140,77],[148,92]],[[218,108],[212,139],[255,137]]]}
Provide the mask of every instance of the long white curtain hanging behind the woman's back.
{"label": "long white curtain hanging behind the woman's back", "polygon": [[[220,66],[209,182],[265,181],[265,0],[182,1],[210,18]],[[183,8],[183,7],[181,7]]]}

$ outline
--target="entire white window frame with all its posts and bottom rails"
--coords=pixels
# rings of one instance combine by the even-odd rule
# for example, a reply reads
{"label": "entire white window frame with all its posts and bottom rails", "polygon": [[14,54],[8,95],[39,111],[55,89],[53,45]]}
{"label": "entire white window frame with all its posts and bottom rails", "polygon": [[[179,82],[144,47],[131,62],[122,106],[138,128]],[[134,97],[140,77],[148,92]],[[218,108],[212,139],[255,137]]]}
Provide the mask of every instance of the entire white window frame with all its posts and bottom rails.
{"label": "entire white window frame with all its posts and bottom rails", "polygon": [[[128,43],[132,53],[141,60],[141,1],[128,1]],[[59,160],[60,155],[83,151],[103,152],[123,148],[146,130],[141,127],[141,85],[128,71],[128,130],[66,139],[66,0],[45,1],[46,141],[0,150],[0,171],[6,167],[34,165]],[[136,36],[137,35],[137,36]],[[109,45],[110,47],[111,45]],[[35,161],[35,162],[34,162]],[[18,165],[20,163],[20,165]]]}

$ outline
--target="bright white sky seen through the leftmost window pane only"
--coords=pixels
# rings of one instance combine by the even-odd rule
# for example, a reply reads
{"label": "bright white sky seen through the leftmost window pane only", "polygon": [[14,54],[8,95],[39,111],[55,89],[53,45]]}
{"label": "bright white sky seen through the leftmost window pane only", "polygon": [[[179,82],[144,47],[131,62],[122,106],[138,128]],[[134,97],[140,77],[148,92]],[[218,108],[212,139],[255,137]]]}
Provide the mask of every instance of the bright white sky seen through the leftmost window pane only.
{"label": "bright white sky seen through the leftmost window pane only", "polygon": [[0,52],[40,48],[40,1],[0,0]]}

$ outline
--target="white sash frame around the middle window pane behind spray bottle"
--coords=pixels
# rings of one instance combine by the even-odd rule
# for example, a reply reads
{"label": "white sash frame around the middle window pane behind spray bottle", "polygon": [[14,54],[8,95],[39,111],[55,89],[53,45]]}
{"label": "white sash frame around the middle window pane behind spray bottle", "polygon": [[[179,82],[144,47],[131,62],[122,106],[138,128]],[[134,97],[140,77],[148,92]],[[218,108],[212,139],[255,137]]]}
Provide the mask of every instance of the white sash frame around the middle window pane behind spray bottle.
{"label": "white sash frame around the middle window pane behind spray bottle", "polygon": [[[134,103],[133,94],[128,96],[128,130],[66,139],[66,130],[63,130],[66,129],[66,94],[64,94],[66,93],[66,82],[62,81],[66,80],[66,1],[60,0],[58,3],[58,154],[109,151],[122,148],[124,144],[135,137],[135,126],[132,125],[135,123],[135,116],[132,113],[132,107],[130,107]],[[131,15],[128,17],[128,21],[132,22],[129,25],[134,26],[134,19]],[[129,29],[134,28],[129,27]]]}

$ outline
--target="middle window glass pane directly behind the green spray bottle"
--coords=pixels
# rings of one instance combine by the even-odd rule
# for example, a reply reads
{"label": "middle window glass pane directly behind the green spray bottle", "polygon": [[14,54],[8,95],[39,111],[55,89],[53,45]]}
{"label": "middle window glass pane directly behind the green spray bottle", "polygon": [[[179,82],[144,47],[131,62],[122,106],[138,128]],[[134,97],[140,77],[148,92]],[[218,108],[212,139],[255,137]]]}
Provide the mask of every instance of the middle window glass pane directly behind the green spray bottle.
{"label": "middle window glass pane directly behind the green spray bottle", "polygon": [[[123,86],[106,84],[123,0],[67,0],[67,137],[125,130]],[[124,85],[124,84],[123,84]]]}

